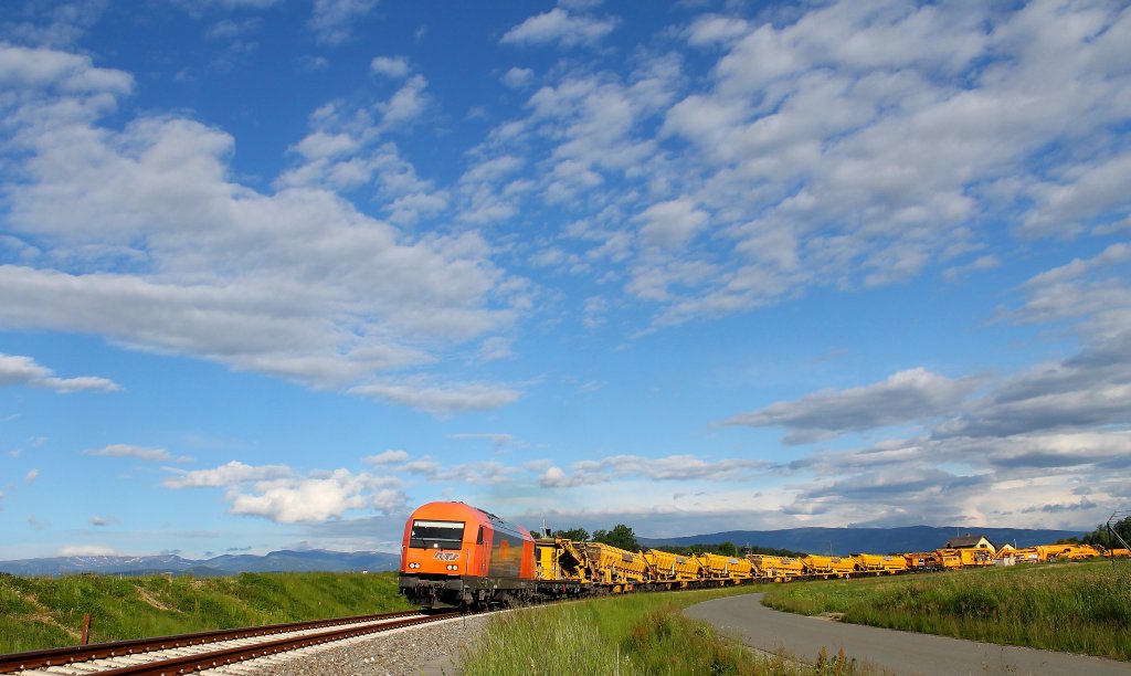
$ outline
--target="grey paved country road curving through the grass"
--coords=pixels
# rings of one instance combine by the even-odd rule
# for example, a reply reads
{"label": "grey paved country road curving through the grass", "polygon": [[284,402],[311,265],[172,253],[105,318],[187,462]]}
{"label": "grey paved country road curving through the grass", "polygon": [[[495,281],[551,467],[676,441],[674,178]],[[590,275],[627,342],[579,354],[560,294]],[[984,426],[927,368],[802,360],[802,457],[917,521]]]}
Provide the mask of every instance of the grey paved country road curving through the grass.
{"label": "grey paved country road curving through the grass", "polygon": [[684,614],[739,635],[746,645],[769,652],[784,648],[808,662],[815,661],[822,647],[829,656],[844,647],[845,655],[875,673],[1131,675],[1129,662],[806,617],[767,608],[761,599],[761,593],[733,596],[691,606]]}

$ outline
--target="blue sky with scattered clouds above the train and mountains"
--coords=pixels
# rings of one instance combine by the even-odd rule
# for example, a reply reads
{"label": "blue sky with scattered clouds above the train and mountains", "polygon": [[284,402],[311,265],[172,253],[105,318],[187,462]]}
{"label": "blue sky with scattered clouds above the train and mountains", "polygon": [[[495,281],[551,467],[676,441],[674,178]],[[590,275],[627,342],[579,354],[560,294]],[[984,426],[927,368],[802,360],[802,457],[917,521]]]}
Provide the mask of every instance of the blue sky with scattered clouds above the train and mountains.
{"label": "blue sky with scattered clouds above the train and mountains", "polygon": [[1124,2],[0,9],[0,558],[1131,501]]}

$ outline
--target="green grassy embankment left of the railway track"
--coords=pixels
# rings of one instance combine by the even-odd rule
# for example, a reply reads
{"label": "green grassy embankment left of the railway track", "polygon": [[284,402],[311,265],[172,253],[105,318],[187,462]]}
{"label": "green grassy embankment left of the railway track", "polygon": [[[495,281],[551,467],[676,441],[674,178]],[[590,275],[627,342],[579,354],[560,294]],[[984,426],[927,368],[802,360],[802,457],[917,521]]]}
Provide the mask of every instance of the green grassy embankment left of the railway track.
{"label": "green grassy embankment left of the railway track", "polygon": [[231,578],[0,575],[0,653],[411,609],[396,573],[243,573]]}

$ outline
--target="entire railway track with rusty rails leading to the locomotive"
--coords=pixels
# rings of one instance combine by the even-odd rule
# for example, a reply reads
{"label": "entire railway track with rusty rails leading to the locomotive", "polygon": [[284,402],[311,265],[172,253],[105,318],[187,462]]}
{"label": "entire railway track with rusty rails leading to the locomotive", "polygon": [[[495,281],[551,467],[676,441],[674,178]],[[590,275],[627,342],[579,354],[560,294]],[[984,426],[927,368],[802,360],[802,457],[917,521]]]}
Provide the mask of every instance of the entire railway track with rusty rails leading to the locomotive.
{"label": "entire railway track with rusty rails leading to the locomotive", "polygon": [[172,676],[216,669],[311,645],[458,617],[386,613],[0,655],[0,674]]}

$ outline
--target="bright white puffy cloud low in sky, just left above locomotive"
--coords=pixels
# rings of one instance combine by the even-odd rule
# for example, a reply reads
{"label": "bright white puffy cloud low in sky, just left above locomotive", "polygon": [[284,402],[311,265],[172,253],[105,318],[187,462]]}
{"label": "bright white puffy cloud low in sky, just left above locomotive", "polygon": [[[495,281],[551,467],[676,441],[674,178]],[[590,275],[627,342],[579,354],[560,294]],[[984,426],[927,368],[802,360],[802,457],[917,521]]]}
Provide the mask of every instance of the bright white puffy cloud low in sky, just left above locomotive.
{"label": "bright white puffy cloud low in sky, just left above locomotive", "polygon": [[224,487],[231,513],[276,523],[320,523],[366,509],[399,513],[408,500],[392,477],[346,469],[301,475],[282,465],[257,467],[235,460],[213,469],[178,473],[163,485],[173,489]]}

